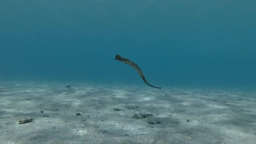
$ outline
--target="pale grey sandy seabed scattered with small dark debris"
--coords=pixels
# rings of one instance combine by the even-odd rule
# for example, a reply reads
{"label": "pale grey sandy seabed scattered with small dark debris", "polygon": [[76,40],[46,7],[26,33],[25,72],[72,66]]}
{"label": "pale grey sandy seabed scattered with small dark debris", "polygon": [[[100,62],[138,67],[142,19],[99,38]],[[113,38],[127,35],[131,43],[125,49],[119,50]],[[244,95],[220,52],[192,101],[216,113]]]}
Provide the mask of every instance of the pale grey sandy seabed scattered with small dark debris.
{"label": "pale grey sandy seabed scattered with small dark debris", "polygon": [[66,85],[0,82],[0,144],[256,143],[253,92]]}

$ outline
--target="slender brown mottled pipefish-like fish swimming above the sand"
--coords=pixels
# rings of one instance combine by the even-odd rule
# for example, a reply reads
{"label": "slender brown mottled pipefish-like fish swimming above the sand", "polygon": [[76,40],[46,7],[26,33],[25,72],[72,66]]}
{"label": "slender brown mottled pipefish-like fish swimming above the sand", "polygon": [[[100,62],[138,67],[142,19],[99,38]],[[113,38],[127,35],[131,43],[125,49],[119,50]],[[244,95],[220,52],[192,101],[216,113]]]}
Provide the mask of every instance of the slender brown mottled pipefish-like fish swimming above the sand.
{"label": "slender brown mottled pipefish-like fish swimming above the sand", "polygon": [[124,62],[125,64],[128,64],[128,65],[131,65],[135,70],[138,71],[138,73],[140,74],[140,77],[143,79],[143,81],[144,81],[147,85],[149,85],[149,86],[151,86],[151,87],[153,87],[153,88],[161,89],[161,87],[155,87],[155,86],[150,85],[150,84],[147,82],[147,80],[145,79],[145,77],[144,77],[142,71],[140,70],[140,67],[139,67],[137,64],[135,64],[134,62],[132,62],[131,60],[129,60],[129,59],[127,59],[127,58],[122,58],[120,55],[116,55],[116,60],[121,61],[121,62]]}

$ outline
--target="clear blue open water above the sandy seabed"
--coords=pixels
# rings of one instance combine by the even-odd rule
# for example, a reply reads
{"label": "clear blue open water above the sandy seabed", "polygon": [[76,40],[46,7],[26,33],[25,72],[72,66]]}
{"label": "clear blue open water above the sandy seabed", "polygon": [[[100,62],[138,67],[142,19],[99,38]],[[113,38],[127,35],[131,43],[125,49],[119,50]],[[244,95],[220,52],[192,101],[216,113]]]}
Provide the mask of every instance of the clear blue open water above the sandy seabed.
{"label": "clear blue open water above the sandy seabed", "polygon": [[255,0],[1,0],[0,79],[256,86]]}

